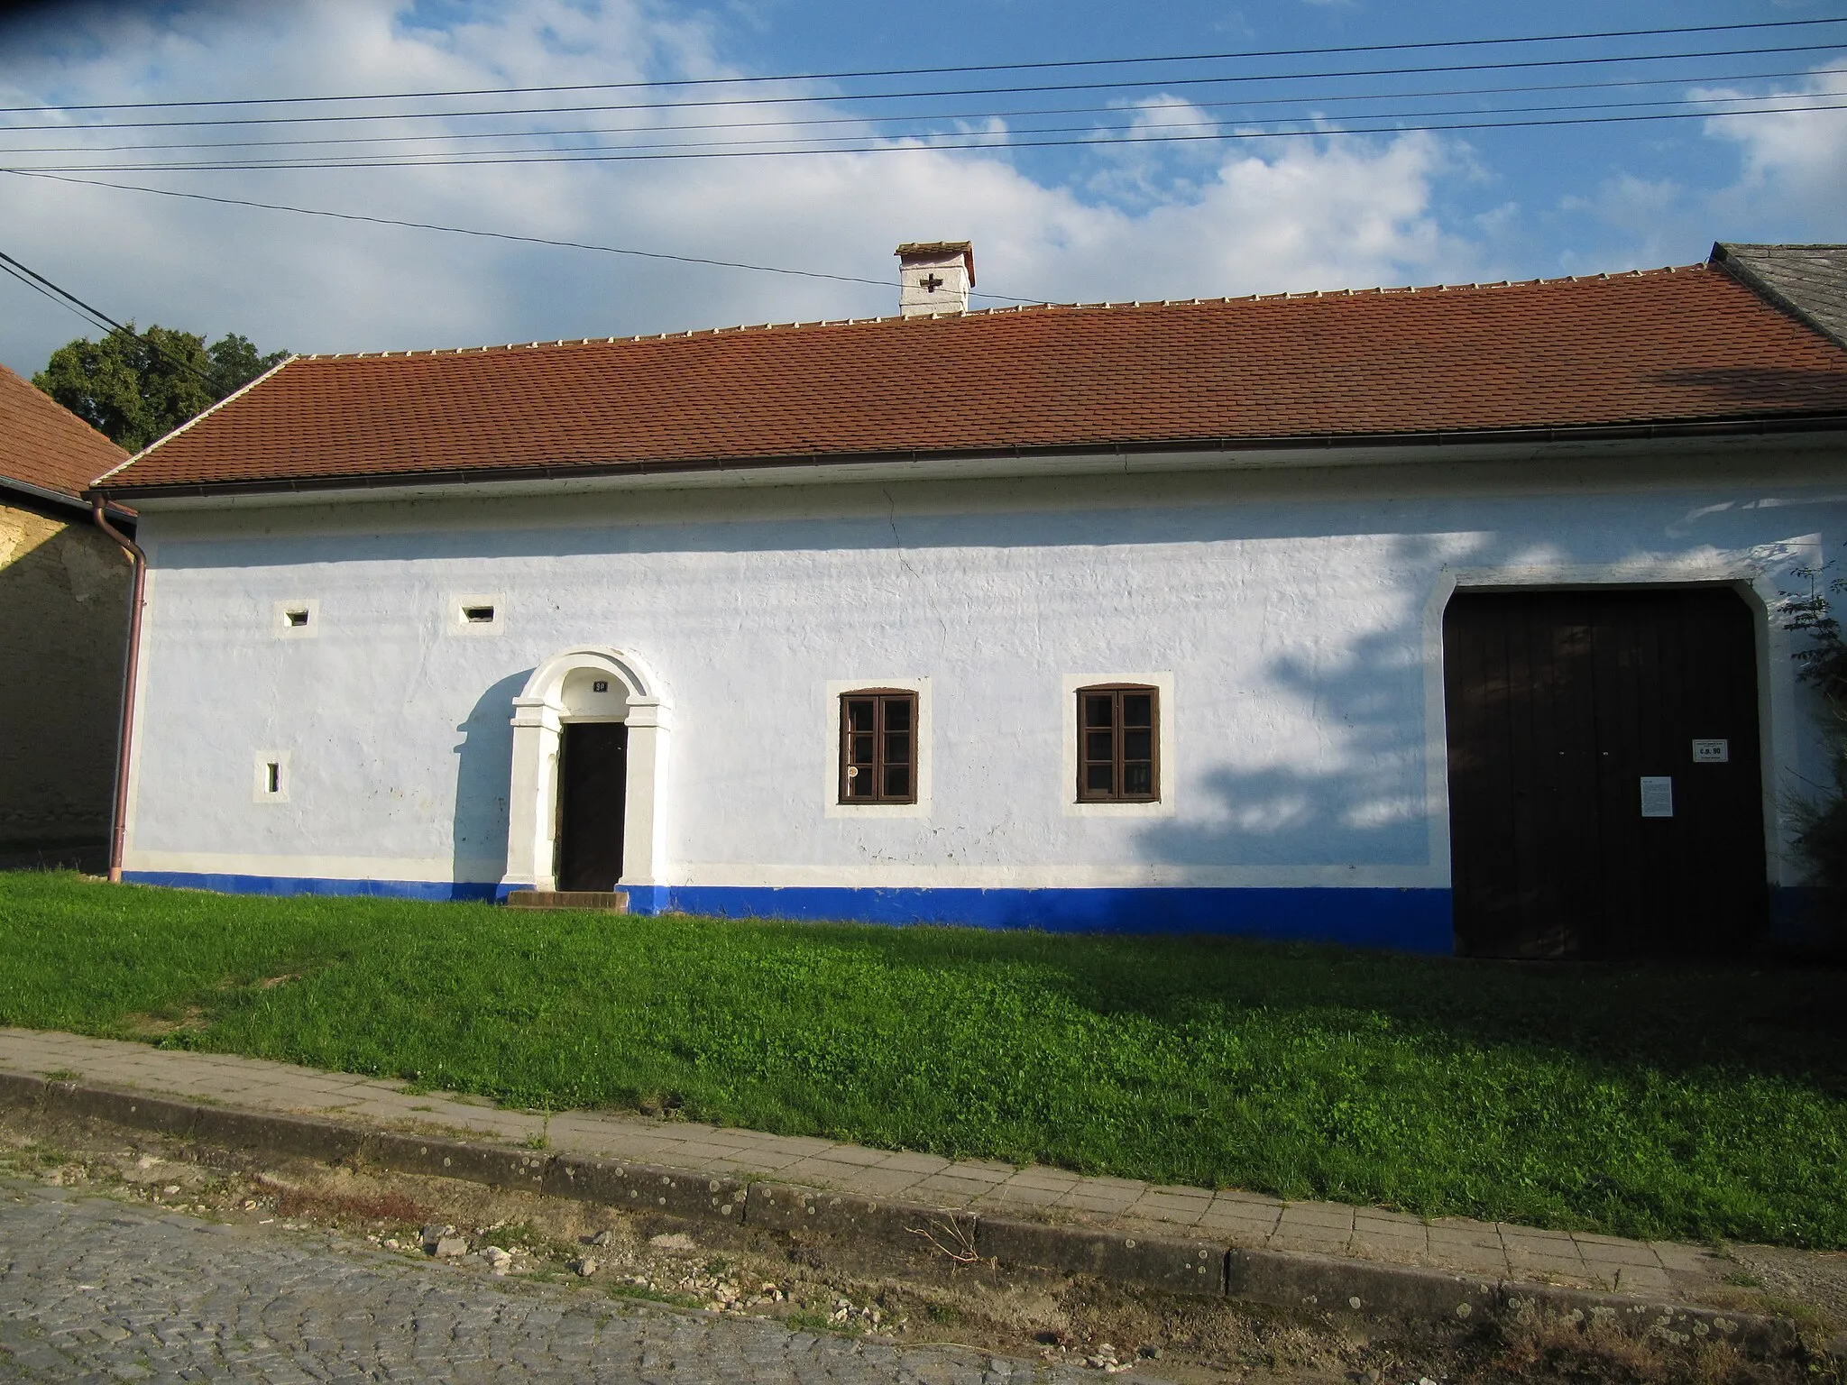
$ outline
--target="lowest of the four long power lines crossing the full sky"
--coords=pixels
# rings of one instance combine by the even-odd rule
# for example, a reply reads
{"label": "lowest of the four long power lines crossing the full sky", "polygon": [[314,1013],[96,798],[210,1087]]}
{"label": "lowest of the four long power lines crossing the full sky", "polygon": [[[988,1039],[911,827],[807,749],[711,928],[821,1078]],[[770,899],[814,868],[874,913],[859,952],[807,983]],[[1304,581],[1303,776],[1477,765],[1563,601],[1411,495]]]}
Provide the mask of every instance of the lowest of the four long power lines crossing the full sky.
{"label": "lowest of the four long power lines crossing the full sky", "polygon": [[[1843,94],[1843,92],[1829,92]],[[1262,138],[1332,138],[1341,135],[1415,135],[1415,133],[1441,133],[1455,129],[1546,129],[1561,126],[1611,126],[1611,124],[1635,124],[1644,120],[1725,120],[1732,116],[1762,116],[1762,114],[1808,114],[1814,111],[1847,111],[1847,105],[1764,105],[1749,111],[1666,111],[1659,114],[1611,114],[1611,116],[1563,116],[1548,120],[1454,120],[1443,124],[1394,124],[1394,126],[1343,126],[1339,129],[1326,127],[1308,127],[1308,129],[1239,129],[1228,133],[1189,133],[1189,135],[1106,135],[1095,138],[1053,138],[1053,140],[1021,140],[1010,138],[1007,131],[996,133],[964,133],[955,137],[938,137],[933,142],[903,142],[903,144],[851,144],[835,146],[827,150],[702,150],[702,148],[672,148],[659,153],[626,153],[621,150],[595,150],[595,151],[532,151],[517,155],[488,155],[488,153],[454,153],[454,155],[412,155],[412,157],[371,157],[362,163],[358,159],[323,159],[316,163],[116,163],[116,164],[35,164],[35,166],[11,166],[0,168],[7,174],[157,174],[157,172],[312,172],[312,170],[347,170],[347,168],[488,168],[488,166],[510,166],[510,164],[573,164],[573,163],[659,163],[670,159],[800,159],[815,155],[839,155],[839,153],[955,153],[964,150],[1049,150],[1049,148],[1084,148],[1101,144],[1173,144],[1173,142],[1232,142],[1232,140],[1262,140]],[[1230,124],[1230,122],[1221,122]],[[948,142],[955,138],[959,142]],[[988,140],[986,144],[975,140]],[[116,185],[103,185],[116,187]],[[157,188],[139,188],[142,192],[151,192]],[[190,194],[172,194],[172,196],[190,196]],[[257,203],[253,203],[257,205]],[[296,211],[296,209],[283,209]],[[368,218],[358,218],[368,220]],[[408,222],[404,225],[410,225]],[[449,227],[432,227],[449,229]],[[574,244],[574,242],[554,242],[554,244]],[[608,249],[606,246],[578,246],[580,249]],[[628,253],[628,251],[617,251]],[[639,251],[637,251],[639,253]],[[680,259],[670,255],[658,255],[656,259]],[[765,268],[765,266],[733,266],[733,268]],[[809,273],[805,270],[774,270],[776,273]],[[813,275],[829,279],[835,275]],[[881,281],[883,283],[883,281]],[[1031,299],[1038,301],[1038,299]]]}

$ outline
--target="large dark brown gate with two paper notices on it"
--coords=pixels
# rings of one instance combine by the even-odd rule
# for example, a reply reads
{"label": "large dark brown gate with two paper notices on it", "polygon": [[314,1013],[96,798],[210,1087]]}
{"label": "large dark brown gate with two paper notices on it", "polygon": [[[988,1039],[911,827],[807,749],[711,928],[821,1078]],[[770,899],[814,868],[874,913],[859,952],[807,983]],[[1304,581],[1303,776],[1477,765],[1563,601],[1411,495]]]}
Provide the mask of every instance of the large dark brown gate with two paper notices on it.
{"label": "large dark brown gate with two paper notices on it", "polygon": [[1756,639],[1738,593],[1461,593],[1443,650],[1459,951],[1672,958],[1756,942]]}

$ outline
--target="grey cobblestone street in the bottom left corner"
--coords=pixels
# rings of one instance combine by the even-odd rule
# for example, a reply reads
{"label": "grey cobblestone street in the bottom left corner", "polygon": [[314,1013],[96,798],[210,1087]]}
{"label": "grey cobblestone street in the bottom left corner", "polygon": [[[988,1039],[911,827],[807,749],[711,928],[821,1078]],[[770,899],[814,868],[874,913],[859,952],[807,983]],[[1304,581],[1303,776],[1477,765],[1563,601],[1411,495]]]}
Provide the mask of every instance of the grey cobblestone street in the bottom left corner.
{"label": "grey cobblestone street in the bottom left corner", "polygon": [[[0,1379],[1077,1381],[0,1180]],[[1134,1372],[1138,1379],[1149,1379]]]}

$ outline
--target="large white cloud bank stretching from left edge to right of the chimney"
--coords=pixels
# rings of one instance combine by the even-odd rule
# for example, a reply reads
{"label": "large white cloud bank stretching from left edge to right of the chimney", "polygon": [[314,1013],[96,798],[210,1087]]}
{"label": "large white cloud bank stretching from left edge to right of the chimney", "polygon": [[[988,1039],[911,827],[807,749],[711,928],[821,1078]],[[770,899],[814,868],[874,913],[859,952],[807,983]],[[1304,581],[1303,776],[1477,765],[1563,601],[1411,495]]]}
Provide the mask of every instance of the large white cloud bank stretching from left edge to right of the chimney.
{"label": "large white cloud bank stretching from left edge to right of the chimney", "polygon": [[[453,28],[419,28],[392,0],[63,11],[61,31],[0,35],[0,103],[728,74],[704,20],[641,0],[530,0],[467,13]],[[399,129],[429,133],[429,124]],[[94,131],[31,138],[127,142]],[[1136,164],[1082,155],[1058,181],[1029,175],[1008,153],[922,146],[805,159],[103,177],[879,281],[894,275],[890,249],[899,240],[968,236],[979,288],[1021,297],[1195,297],[1472,277],[1476,249],[1446,235],[1431,211],[1437,185],[1465,172],[1457,148],[1435,137],[1182,148],[1149,144],[1132,153]],[[1121,181],[1129,174],[1132,188]],[[240,331],[259,345],[297,351],[864,316],[896,303],[883,283],[508,246],[18,177],[0,179],[0,247],[116,316],[212,336]],[[79,331],[74,318],[0,281],[0,360],[33,369]]]}

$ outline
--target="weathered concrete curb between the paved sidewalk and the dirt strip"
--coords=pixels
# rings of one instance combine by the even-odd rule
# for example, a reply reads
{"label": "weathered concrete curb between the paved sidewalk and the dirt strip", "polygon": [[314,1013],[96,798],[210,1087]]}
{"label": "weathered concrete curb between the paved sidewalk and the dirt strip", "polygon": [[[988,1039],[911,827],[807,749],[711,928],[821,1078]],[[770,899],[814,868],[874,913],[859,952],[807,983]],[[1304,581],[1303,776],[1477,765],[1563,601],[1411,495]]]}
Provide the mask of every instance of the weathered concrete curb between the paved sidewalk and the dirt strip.
{"label": "weathered concrete curb between the paved sidewalk and the dirt strip", "polygon": [[1681,1344],[1729,1341],[1758,1355],[1788,1352],[1801,1341],[1795,1322],[1755,1313],[1345,1256],[1243,1250],[1213,1239],[1036,1222],[767,1180],[746,1184],[687,1169],[416,1136],[22,1073],[0,1073],[0,1108],[33,1108],[214,1147],[462,1178],[610,1208],[730,1222],[881,1258],[922,1254],[940,1256],[951,1265],[1084,1274],[1117,1285],[1223,1296],[1317,1317],[1457,1326],[1539,1311],[1574,1322],[1609,1322],[1629,1335]]}

